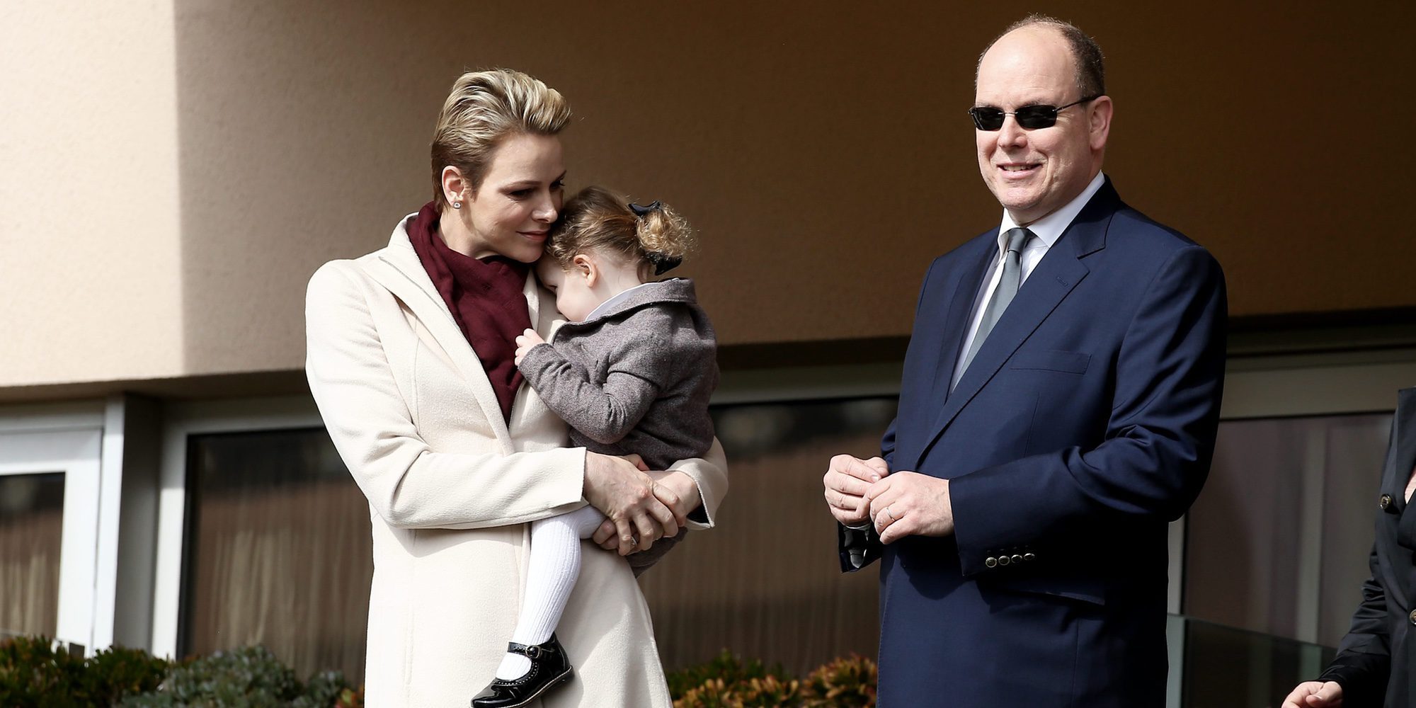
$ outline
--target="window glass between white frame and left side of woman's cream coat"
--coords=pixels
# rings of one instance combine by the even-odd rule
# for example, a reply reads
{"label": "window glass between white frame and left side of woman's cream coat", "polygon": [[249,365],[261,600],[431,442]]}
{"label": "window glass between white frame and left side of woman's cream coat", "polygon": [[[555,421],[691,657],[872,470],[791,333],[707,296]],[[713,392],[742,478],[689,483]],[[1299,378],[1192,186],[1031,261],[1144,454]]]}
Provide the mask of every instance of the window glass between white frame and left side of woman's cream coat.
{"label": "window glass between white frame and left side of woman's cream coat", "polygon": [[364,675],[368,503],[323,429],[188,439],[181,653],[265,644]]}

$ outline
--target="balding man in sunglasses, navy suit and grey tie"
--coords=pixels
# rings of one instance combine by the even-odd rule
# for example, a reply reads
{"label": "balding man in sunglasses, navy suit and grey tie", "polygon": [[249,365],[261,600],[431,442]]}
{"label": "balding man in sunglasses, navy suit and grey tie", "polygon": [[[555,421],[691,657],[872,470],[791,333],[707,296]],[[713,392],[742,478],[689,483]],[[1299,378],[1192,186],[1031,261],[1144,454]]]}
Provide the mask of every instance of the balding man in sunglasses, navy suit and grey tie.
{"label": "balding man in sunglasses, navy suit and grey tie", "polygon": [[881,561],[879,705],[1164,705],[1223,275],[1102,173],[1113,105],[1076,27],[1010,27],[970,113],[1001,221],[930,265],[881,457],[824,476],[843,569]]}

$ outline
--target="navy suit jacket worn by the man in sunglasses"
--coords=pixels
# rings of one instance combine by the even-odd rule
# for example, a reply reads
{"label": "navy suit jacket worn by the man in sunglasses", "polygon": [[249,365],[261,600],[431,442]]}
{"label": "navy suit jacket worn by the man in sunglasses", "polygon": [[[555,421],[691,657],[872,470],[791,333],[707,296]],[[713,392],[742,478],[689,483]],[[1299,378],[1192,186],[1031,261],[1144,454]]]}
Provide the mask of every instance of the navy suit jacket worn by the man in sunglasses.
{"label": "navy suit jacket worn by the man in sunglasses", "polygon": [[841,530],[843,569],[881,559],[879,705],[1164,705],[1167,523],[1209,470],[1223,275],[1107,180],[950,392],[997,238],[930,265],[882,440],[891,472],[950,480],[954,535]]}

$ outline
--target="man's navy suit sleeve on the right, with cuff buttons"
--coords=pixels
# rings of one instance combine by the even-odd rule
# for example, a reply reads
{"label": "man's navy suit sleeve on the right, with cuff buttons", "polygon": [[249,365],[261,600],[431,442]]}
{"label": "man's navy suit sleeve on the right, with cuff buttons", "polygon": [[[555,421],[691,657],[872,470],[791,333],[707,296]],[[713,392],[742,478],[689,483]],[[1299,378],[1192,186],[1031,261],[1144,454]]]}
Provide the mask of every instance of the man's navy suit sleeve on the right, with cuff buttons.
{"label": "man's navy suit sleeve on the right, with cuff buttons", "polygon": [[984,558],[998,548],[1041,548],[1080,528],[1104,534],[1127,528],[1126,520],[1168,521],[1184,514],[1214,453],[1225,317],[1219,263],[1199,246],[1175,251],[1153,276],[1116,350],[1112,411],[1100,443],[950,481],[963,572],[983,572]]}

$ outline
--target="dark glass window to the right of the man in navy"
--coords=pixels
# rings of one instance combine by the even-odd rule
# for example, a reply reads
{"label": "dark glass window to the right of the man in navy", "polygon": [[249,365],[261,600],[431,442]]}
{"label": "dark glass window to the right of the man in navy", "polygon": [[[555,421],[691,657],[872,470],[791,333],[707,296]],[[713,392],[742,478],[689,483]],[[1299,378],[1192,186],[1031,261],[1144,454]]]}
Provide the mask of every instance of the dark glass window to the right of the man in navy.
{"label": "dark glass window to the right of the man in navy", "polygon": [[1185,613],[1335,646],[1368,578],[1391,413],[1225,421],[1189,510]]}

